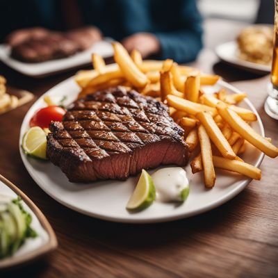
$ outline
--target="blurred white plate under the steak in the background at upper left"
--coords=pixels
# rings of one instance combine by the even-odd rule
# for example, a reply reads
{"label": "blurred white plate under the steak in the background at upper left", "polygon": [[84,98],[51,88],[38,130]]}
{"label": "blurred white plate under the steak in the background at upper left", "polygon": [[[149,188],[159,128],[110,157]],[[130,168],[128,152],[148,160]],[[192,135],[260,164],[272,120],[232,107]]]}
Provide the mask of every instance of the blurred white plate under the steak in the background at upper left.
{"label": "blurred white plate under the steak in the background at upper left", "polygon": [[10,47],[6,44],[0,44],[0,60],[13,70],[32,77],[47,76],[57,72],[64,72],[76,67],[81,67],[83,65],[88,65],[90,64],[92,53],[97,53],[104,58],[113,56],[111,39],[96,42],[90,47],[90,49],[79,52],[73,56],[49,60],[43,63],[24,63],[15,60],[10,56]]}

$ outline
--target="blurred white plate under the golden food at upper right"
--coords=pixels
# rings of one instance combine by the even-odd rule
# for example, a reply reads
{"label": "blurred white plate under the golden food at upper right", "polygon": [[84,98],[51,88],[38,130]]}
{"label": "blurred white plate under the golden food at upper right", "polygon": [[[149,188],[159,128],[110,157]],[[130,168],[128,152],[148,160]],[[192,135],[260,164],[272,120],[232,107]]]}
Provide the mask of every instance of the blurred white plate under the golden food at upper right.
{"label": "blurred white plate under the golden food at upper right", "polygon": [[238,58],[236,51],[238,50],[238,44],[236,41],[225,42],[218,45],[215,48],[215,53],[220,60],[227,62],[237,67],[242,67],[245,70],[255,73],[268,73],[271,71],[270,65],[261,65],[252,62],[248,62]]}

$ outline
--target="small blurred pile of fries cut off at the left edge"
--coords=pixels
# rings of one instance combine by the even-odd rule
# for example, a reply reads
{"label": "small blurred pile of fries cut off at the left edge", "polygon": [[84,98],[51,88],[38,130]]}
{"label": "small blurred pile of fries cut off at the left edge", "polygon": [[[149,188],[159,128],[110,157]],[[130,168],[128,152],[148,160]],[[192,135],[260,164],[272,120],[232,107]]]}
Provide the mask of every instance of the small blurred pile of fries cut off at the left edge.
{"label": "small blurred pile of fries cut off at the left edge", "polygon": [[7,94],[6,79],[0,75],[0,114],[16,108],[17,105],[18,98]]}

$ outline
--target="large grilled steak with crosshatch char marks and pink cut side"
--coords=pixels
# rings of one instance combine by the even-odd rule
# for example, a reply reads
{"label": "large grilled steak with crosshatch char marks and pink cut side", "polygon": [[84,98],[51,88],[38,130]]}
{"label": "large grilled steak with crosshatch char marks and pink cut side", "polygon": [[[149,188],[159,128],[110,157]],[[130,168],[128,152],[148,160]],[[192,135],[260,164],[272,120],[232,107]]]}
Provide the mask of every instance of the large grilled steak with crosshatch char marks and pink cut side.
{"label": "large grilled steak with crosshatch char marks and pink cut side", "polygon": [[188,161],[183,130],[167,106],[123,87],[76,100],[49,129],[47,156],[73,182],[124,180],[143,168]]}

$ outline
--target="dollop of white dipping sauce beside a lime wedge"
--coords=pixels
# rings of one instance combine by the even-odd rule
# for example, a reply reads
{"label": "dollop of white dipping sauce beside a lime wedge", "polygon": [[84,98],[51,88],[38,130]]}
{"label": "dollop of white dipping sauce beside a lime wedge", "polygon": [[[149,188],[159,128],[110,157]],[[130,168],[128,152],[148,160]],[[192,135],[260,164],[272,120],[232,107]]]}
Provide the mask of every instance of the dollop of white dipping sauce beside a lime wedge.
{"label": "dollop of white dipping sauce beside a lime wedge", "polygon": [[181,202],[183,190],[189,190],[186,171],[181,167],[169,167],[157,170],[152,174],[156,187],[156,200],[160,202]]}

